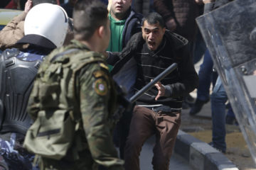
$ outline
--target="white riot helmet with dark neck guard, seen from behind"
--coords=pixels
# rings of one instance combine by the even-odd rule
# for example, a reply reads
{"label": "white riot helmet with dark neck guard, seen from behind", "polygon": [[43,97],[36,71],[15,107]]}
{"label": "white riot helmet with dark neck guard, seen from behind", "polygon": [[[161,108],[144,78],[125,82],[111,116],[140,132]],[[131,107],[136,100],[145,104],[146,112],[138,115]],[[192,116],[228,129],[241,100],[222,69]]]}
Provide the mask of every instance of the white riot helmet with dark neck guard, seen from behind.
{"label": "white riot helmet with dark neck guard, seen from behind", "polygon": [[25,36],[17,43],[29,43],[54,49],[63,45],[68,32],[68,15],[54,4],[33,6],[25,18]]}

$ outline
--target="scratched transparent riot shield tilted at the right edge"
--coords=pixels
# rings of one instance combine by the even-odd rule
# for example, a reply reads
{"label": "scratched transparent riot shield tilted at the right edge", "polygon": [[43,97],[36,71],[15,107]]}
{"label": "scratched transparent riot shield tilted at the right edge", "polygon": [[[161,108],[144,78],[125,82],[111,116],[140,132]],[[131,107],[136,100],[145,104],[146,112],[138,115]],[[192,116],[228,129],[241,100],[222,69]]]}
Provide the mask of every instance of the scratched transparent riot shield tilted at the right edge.
{"label": "scratched transparent riot shield tilted at the right edge", "polygon": [[255,0],[235,0],[196,21],[256,164],[255,18]]}

